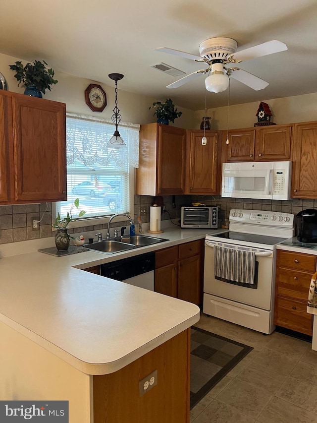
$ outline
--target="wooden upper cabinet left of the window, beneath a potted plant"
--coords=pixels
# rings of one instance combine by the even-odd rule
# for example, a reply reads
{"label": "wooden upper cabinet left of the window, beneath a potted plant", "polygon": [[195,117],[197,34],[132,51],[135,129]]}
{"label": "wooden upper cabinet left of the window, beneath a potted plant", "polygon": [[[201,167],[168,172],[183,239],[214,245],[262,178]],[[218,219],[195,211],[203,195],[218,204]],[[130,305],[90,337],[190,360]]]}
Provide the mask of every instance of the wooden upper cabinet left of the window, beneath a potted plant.
{"label": "wooden upper cabinet left of the window, beneath a potted plant", "polygon": [[66,199],[65,104],[0,91],[0,203]]}

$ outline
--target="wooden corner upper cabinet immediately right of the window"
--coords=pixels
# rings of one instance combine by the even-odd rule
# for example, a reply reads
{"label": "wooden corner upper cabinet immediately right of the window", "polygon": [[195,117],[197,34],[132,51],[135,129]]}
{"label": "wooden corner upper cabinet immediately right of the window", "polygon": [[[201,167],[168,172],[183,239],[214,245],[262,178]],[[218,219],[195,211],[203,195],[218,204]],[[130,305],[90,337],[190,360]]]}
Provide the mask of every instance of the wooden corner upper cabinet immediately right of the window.
{"label": "wooden corner upper cabinet immediately right of the window", "polygon": [[185,145],[185,129],[159,123],[141,125],[136,194],[184,194]]}

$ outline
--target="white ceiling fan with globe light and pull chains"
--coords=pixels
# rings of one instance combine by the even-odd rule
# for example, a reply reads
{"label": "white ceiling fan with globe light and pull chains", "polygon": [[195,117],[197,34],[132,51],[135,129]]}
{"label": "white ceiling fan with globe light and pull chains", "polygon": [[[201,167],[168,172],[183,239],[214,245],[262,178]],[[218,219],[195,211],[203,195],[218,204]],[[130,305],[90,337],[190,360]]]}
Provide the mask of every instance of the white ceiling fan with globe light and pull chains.
{"label": "white ceiling fan with globe light and pull chains", "polygon": [[158,47],[155,50],[208,65],[208,68],[196,70],[196,72],[167,85],[166,88],[178,88],[196,78],[196,76],[208,73],[209,76],[205,79],[206,89],[214,93],[225,91],[228,88],[229,76],[256,91],[264,89],[267,87],[268,82],[239,67],[226,67],[225,65],[228,63],[240,63],[242,60],[255,59],[287,50],[286,44],[278,40],[268,41],[236,53],[237,47],[237,42],[232,38],[216,37],[209,38],[199,45],[200,56],[166,47]]}

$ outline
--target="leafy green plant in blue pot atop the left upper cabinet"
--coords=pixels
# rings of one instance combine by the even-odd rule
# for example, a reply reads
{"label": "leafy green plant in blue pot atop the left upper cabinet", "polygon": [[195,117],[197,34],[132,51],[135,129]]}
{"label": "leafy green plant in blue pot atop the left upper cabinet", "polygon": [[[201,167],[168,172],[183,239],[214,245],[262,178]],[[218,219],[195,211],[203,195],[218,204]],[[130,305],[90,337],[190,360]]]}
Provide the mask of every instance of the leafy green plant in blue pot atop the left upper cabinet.
{"label": "leafy green plant in blue pot atop the left upper cabinet", "polygon": [[14,77],[18,80],[18,87],[22,83],[26,87],[24,94],[33,97],[42,97],[42,93],[45,94],[45,90],[51,91],[52,84],[56,84],[58,81],[53,78],[54,71],[52,68],[47,68],[47,62],[45,60],[35,60],[33,63],[26,63],[23,66],[21,61],[16,61],[14,64],[10,64],[9,68],[15,71]]}

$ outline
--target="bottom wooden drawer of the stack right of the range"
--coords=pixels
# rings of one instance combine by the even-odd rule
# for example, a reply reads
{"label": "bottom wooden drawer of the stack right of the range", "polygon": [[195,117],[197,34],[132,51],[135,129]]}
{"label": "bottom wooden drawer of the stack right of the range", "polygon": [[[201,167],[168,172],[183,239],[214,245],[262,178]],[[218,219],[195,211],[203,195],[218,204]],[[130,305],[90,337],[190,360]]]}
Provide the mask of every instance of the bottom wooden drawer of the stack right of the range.
{"label": "bottom wooden drawer of the stack right of the range", "polygon": [[274,324],[306,335],[313,334],[313,315],[308,314],[307,303],[277,296]]}

